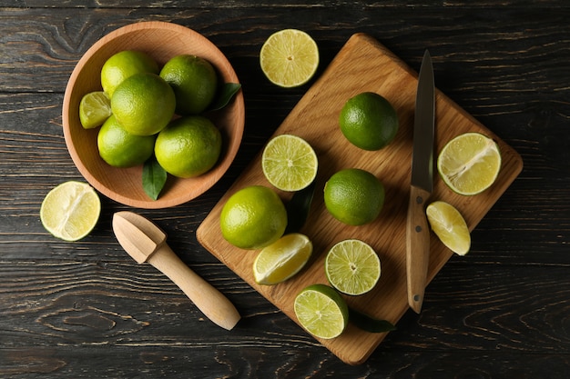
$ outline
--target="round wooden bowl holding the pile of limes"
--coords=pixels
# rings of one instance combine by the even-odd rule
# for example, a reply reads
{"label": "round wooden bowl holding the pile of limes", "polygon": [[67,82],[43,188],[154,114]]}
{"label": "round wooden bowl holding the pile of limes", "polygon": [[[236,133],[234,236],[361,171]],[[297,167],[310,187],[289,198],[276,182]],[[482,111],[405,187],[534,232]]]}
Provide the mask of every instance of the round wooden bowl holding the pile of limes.
{"label": "round wooden bowl holding the pile of limes", "polygon": [[168,175],[158,200],[152,200],[142,186],[142,165],[116,168],[107,165],[97,150],[98,128],[86,130],[79,121],[83,95],[101,91],[100,72],[107,59],[122,50],[140,50],[164,65],[175,55],[192,54],[207,59],[223,83],[239,83],[228,59],[203,35],[187,27],[165,22],[127,25],[101,38],[81,57],[66,86],[63,127],[67,149],[77,169],[101,194],[129,206],[165,208],[183,204],[206,192],[226,173],[238,153],[245,122],[241,91],[224,109],[207,116],[218,126],[223,138],[218,164],[208,173],[182,179]]}

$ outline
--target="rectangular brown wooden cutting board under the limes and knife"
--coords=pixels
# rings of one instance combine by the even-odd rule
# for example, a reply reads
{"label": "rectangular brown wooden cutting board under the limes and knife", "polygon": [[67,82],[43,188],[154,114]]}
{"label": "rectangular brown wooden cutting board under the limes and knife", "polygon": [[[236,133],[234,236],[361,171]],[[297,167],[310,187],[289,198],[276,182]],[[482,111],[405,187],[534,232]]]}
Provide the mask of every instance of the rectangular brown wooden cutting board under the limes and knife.
{"label": "rectangular brown wooden cutting board under the limes and knife", "polygon": [[[437,68],[437,60],[434,65]],[[437,69],[435,70],[437,73]],[[437,86],[437,75],[435,75]],[[324,256],[333,244],[359,238],[376,250],[382,261],[382,276],[369,294],[346,296],[349,306],[374,317],[397,324],[408,311],[405,268],[405,221],[412,165],[412,125],[417,74],[383,45],[369,35],[352,35],[331,65],[304,95],[275,135],[299,135],[313,146],[319,157],[315,196],[307,224],[302,229],[313,242],[314,251],[307,266],[289,281],[274,286],[256,284],[251,267],[256,251],[245,251],[228,244],[219,229],[219,214],[229,196],[248,185],[266,185],[259,154],[245,172],[229,188],[200,224],[198,241],[236,274],[265,296],[272,304],[297,322],[293,311],[296,294],[307,285],[327,284]],[[342,105],[353,95],[364,91],[386,97],[396,109],[400,129],[391,145],[377,152],[363,151],[351,145],[341,134],[338,116]],[[436,90],[436,152],[454,136],[480,132],[498,143],[503,156],[501,173],[494,185],[472,197],[454,194],[434,175],[431,198],[453,204],[473,230],[496,200],[521,172],[523,161],[513,148],[468,115],[452,100]],[[385,186],[386,198],[382,213],[372,224],[348,226],[331,217],[325,209],[322,190],[335,172],[359,167],[377,175]],[[284,201],[290,194],[279,192]],[[443,267],[451,253],[432,234],[428,281]],[[429,296],[429,288],[426,291]],[[411,311],[412,312],[412,311]],[[340,337],[320,340],[321,344],[347,364],[361,364],[382,342],[386,334],[363,332],[352,324]]]}

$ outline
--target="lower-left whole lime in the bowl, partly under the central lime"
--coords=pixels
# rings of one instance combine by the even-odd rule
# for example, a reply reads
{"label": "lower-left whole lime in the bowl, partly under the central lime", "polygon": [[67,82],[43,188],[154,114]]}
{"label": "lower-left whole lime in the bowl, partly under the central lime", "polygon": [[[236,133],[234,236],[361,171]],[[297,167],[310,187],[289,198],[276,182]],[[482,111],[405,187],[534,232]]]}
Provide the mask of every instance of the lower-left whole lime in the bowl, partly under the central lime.
{"label": "lower-left whole lime in the bowl, partly under the central lime", "polygon": [[107,164],[115,167],[132,167],[143,164],[152,155],[154,135],[131,135],[114,115],[99,129],[97,148]]}

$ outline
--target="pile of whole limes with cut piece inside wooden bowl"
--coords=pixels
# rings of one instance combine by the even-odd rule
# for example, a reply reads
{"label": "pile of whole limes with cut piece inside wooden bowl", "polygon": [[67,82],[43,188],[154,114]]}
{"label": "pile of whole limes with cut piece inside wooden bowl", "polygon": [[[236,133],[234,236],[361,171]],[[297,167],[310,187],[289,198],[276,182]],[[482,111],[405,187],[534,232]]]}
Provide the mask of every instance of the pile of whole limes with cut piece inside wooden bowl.
{"label": "pile of whole limes with cut piece inside wooden bowl", "polygon": [[[103,91],[84,95],[85,128],[102,125],[99,155],[117,167],[141,165],[151,155],[166,172],[192,177],[209,171],[221,153],[218,128],[201,115],[218,90],[214,67],[196,55],[177,55],[160,69],[148,54],[125,50],[101,69]],[[173,121],[174,115],[181,116]]]}

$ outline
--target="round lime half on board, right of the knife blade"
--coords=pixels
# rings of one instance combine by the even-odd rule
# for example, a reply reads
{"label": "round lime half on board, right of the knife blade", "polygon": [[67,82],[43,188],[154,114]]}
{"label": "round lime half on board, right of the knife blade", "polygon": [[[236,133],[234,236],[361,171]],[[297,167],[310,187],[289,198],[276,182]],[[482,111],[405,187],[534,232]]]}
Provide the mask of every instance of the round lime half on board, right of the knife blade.
{"label": "round lime half on board, right of the knife blade", "polygon": [[443,182],[457,194],[479,194],[499,175],[501,153],[493,139],[465,133],[443,146],[437,169]]}

